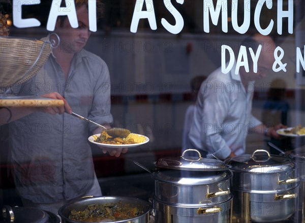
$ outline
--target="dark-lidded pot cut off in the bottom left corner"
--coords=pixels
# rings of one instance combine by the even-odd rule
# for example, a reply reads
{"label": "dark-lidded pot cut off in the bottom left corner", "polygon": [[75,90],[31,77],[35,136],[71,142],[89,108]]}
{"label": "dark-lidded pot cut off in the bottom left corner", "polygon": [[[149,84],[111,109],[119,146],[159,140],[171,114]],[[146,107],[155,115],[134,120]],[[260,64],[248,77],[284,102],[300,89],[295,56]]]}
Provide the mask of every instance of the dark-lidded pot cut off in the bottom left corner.
{"label": "dark-lidded pot cut off in the bottom left corner", "polygon": [[60,219],[52,212],[32,207],[10,207],[5,205],[2,208],[0,222],[10,223],[59,223]]}

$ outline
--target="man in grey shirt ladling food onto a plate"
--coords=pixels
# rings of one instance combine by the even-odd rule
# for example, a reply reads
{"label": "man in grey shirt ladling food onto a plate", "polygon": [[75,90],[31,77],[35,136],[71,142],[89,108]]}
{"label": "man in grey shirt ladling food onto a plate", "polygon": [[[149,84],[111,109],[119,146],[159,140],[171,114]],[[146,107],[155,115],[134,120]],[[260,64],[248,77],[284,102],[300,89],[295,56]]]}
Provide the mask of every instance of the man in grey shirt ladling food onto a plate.
{"label": "man in grey shirt ladling food onto a plate", "polygon": [[[76,0],[75,5],[79,27],[73,29],[67,17],[58,17],[54,32],[60,45],[26,82],[34,91],[31,93],[63,99],[65,106],[12,109],[12,120],[19,119],[10,123],[10,155],[23,204],[56,214],[71,199],[101,196],[87,141],[88,134],[101,130],[64,111],[71,113],[73,109],[97,123],[112,123],[108,67],[83,49],[90,36],[87,2]],[[24,93],[22,86],[20,89]],[[50,89],[55,92],[49,93]],[[109,153],[118,156],[121,152],[126,151]]]}

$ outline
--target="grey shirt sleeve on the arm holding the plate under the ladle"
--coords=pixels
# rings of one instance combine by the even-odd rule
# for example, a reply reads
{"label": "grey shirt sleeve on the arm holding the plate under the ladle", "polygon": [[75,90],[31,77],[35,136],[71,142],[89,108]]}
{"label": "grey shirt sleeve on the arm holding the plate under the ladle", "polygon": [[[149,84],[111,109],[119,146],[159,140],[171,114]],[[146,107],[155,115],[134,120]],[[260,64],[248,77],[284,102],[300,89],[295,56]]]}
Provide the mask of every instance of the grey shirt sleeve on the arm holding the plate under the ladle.
{"label": "grey shirt sleeve on the arm holding the plate under the ladle", "polygon": [[[112,123],[113,118],[110,113],[110,75],[107,64],[101,59],[100,66],[95,71],[97,78],[94,86],[94,99],[92,109],[88,117],[96,123],[105,124]],[[89,130],[92,132],[97,126],[89,124]]]}

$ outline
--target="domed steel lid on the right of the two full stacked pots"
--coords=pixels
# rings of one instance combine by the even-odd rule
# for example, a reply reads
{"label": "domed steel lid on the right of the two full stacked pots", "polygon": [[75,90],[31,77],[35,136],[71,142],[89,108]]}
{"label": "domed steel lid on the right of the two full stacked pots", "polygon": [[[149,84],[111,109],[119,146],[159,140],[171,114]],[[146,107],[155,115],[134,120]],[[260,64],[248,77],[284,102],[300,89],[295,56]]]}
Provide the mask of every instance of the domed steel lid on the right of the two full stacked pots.
{"label": "domed steel lid on the right of the two full stacked pots", "polygon": [[250,172],[256,174],[272,174],[293,171],[295,163],[287,157],[272,155],[266,150],[256,150],[252,155],[243,154],[227,159],[233,171]]}

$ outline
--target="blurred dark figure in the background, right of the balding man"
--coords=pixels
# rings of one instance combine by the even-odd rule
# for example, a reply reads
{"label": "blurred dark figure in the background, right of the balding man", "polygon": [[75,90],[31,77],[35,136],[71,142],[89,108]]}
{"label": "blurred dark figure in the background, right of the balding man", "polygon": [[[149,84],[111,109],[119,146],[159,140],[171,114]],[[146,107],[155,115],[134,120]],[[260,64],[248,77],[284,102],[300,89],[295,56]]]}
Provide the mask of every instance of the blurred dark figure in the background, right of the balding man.
{"label": "blurred dark figure in the background, right of the balding man", "polygon": [[[273,79],[268,90],[267,100],[263,104],[262,122],[267,126],[274,126],[277,123],[287,125],[287,114],[289,104],[285,100],[286,82],[281,78]],[[268,137],[268,142],[276,145],[283,151],[292,149],[290,137],[273,138]],[[280,151],[270,147],[272,154],[280,154]]]}

